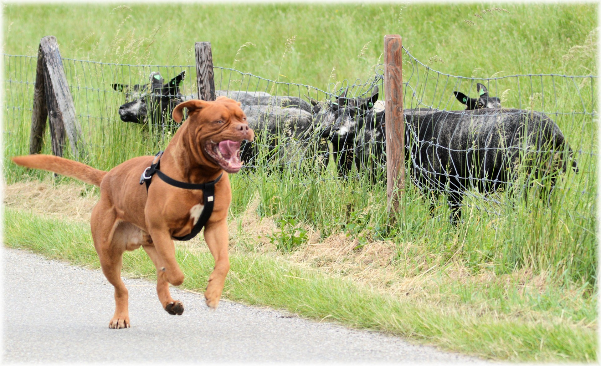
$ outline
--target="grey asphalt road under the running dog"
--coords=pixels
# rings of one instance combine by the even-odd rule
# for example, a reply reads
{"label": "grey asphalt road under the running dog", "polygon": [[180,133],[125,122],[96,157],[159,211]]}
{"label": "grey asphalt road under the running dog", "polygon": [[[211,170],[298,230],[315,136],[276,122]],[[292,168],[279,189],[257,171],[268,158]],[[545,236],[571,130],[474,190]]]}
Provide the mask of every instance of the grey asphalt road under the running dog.
{"label": "grey asphalt road under the running dog", "polygon": [[3,362],[484,363],[401,338],[290,317],[172,288],[171,316],[154,284],[125,279],[132,328],[109,329],[113,288],[100,270],[4,248]]}

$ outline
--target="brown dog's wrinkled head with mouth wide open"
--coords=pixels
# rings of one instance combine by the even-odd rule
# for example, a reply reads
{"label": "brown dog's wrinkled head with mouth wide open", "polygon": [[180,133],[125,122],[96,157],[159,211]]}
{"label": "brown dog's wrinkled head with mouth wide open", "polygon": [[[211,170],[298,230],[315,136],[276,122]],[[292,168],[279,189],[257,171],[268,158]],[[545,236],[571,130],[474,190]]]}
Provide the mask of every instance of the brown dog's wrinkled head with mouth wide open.
{"label": "brown dog's wrinkled head with mouth wide open", "polygon": [[173,120],[181,122],[183,109],[188,109],[188,118],[179,132],[190,138],[191,147],[197,150],[200,160],[235,173],[242,168],[240,142],[252,141],[254,131],[248,126],[246,114],[240,102],[227,97],[218,97],[215,102],[188,100],[173,109]]}

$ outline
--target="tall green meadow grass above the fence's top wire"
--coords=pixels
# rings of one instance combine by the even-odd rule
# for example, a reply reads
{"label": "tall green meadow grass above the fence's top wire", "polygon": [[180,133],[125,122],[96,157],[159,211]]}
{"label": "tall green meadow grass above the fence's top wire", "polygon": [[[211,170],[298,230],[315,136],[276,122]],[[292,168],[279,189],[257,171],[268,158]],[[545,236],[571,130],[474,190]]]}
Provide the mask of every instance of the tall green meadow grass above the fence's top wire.
{"label": "tall green meadow grass above the fence's top wire", "polygon": [[[371,66],[383,59],[383,36],[400,34],[416,58],[426,63],[437,55],[444,63],[436,61],[434,68],[453,75],[469,77],[474,70],[480,77],[501,70],[502,75],[596,74],[591,50],[562,58],[573,46],[585,44],[596,28],[596,5],[507,4],[503,8],[509,13],[481,13],[495,6],[7,5],[5,52],[36,55],[40,38],[52,34],[65,57],[191,65],[194,42],[211,41],[215,65],[272,80],[278,78],[279,70],[284,81],[322,86],[330,81],[334,67],[337,80],[371,75]],[[294,35],[293,50],[280,70],[285,42]],[[254,46],[244,47],[236,56],[246,42]]]}

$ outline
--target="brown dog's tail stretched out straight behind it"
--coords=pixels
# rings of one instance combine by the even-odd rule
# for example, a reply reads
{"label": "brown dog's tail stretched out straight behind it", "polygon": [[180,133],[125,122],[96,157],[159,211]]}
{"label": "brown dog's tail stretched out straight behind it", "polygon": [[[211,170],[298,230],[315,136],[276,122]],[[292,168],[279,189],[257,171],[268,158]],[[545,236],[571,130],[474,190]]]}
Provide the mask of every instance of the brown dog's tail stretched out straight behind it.
{"label": "brown dog's tail stretched out straight behind it", "polygon": [[94,169],[90,165],[53,155],[33,154],[15,156],[13,157],[13,162],[28,168],[44,169],[66,175],[67,177],[76,178],[94,186],[100,186],[102,178],[107,173],[106,171]]}

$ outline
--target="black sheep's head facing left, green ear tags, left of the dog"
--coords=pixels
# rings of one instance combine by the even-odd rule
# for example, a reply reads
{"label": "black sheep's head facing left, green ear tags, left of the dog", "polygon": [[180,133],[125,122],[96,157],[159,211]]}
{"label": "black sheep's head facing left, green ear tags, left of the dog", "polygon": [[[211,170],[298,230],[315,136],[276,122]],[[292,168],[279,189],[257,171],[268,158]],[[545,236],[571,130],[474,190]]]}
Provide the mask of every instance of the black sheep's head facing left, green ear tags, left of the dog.
{"label": "black sheep's head facing left, green ear tags, left of the dog", "polygon": [[119,107],[119,116],[124,122],[146,123],[148,116],[152,123],[165,121],[165,117],[183,102],[180,84],[186,77],[183,71],[168,83],[163,84],[163,78],[158,72],[150,73],[150,84],[123,85],[113,84],[116,91],[125,93],[126,103]]}

